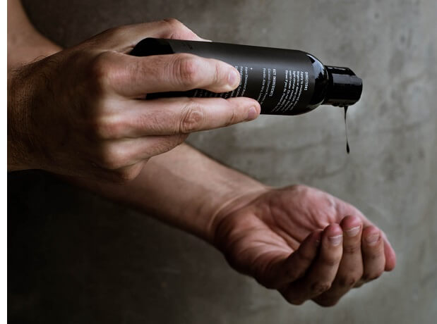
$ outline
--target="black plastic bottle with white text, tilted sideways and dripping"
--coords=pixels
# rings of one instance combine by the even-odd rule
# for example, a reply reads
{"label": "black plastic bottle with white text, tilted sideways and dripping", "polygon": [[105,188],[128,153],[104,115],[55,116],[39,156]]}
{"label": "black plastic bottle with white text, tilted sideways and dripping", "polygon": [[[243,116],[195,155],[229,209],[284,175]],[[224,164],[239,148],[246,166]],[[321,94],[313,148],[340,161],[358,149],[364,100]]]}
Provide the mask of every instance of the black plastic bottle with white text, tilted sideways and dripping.
{"label": "black plastic bottle with white text, tilted sideways and dripping", "polygon": [[146,38],[131,51],[134,56],[189,53],[217,58],[239,70],[241,82],[232,92],[216,94],[203,89],[148,94],[166,96],[249,96],[261,104],[261,113],[299,115],[320,105],[347,107],[355,104],[362,80],[349,68],[323,66],[304,51],[216,42]]}

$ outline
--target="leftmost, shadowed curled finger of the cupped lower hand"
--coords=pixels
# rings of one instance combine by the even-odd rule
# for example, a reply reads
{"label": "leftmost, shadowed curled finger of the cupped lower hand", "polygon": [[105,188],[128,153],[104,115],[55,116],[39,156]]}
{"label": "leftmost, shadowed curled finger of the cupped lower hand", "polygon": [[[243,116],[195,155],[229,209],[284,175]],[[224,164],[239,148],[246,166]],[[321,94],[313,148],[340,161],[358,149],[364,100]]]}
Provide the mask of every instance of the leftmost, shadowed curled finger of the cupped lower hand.
{"label": "leftmost, shadowed curled finger of the cupped lower hand", "polygon": [[258,280],[258,282],[271,289],[280,289],[301,278],[317,256],[321,232],[318,230],[309,234],[301,242],[299,249],[290,254],[288,258],[281,258],[270,263],[265,273],[260,275],[263,280]]}

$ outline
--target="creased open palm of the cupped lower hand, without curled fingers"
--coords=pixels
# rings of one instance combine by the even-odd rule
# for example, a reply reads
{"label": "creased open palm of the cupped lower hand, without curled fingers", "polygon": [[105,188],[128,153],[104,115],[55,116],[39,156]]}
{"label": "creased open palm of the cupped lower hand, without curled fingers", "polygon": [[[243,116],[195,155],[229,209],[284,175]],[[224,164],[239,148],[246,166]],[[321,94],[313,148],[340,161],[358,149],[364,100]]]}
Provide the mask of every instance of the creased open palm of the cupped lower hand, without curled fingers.
{"label": "creased open palm of the cupped lower hand, without curled fingers", "polygon": [[317,189],[274,189],[222,218],[216,240],[229,263],[269,286],[268,268],[296,251],[313,231],[347,215],[369,223],[353,206]]}

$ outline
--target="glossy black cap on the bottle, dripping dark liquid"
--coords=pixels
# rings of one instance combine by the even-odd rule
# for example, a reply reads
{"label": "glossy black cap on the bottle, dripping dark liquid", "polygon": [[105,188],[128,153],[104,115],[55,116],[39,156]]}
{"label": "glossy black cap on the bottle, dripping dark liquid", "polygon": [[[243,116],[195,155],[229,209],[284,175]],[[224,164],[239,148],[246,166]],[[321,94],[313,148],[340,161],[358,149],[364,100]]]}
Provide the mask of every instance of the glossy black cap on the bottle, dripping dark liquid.
{"label": "glossy black cap on the bottle, dripping dark liquid", "polygon": [[323,105],[351,106],[359,101],[363,91],[363,80],[350,68],[326,66],[329,85]]}

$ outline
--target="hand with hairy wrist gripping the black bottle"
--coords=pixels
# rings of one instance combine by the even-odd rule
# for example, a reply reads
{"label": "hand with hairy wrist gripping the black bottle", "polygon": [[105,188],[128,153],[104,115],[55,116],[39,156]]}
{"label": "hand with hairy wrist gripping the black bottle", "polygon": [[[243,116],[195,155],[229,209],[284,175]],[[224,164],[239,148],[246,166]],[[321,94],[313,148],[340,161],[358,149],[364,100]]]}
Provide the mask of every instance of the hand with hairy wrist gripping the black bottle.
{"label": "hand with hairy wrist gripping the black bottle", "polygon": [[253,120],[248,98],[139,100],[239,85],[227,63],[191,54],[127,55],[144,37],[200,40],[177,20],[128,25],[8,73],[8,170],[131,180],[190,132]]}

